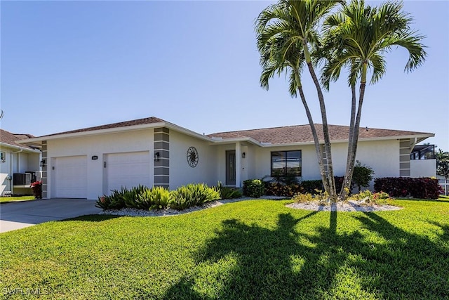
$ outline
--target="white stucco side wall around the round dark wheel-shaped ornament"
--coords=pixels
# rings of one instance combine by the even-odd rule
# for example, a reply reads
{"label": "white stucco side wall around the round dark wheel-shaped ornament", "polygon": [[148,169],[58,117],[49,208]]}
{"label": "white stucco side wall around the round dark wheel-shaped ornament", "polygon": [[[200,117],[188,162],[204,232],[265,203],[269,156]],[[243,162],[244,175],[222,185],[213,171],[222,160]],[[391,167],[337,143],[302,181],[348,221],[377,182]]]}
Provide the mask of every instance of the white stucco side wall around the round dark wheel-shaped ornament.
{"label": "white stucco side wall around the round dark wheel-shaped ornament", "polygon": [[[192,168],[187,163],[187,150],[195,147],[199,160]],[[170,189],[189,183],[216,185],[217,149],[206,141],[170,130]]]}

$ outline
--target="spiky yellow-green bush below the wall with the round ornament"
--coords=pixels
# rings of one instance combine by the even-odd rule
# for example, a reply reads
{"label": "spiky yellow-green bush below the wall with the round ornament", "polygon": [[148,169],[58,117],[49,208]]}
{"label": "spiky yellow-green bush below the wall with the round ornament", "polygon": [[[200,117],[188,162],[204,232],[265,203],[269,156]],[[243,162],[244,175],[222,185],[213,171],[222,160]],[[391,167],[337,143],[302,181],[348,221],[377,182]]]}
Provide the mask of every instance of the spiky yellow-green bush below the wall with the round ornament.
{"label": "spiky yellow-green bush below the wall with the round ornament", "polygon": [[204,183],[183,185],[177,190],[173,190],[172,196],[170,207],[177,210],[220,199],[220,193]]}

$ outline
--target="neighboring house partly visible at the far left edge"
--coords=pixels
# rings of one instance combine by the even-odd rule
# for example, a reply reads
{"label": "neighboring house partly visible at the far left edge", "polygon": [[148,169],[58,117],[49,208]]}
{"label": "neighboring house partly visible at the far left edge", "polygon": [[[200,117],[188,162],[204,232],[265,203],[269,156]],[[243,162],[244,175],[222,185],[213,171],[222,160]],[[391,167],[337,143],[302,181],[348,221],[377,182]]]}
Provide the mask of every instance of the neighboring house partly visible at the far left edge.
{"label": "neighboring house partly visible at the far left edge", "polygon": [[[39,147],[27,144],[30,134],[0,129],[0,195],[32,195],[29,184],[39,180]],[[21,141],[22,143],[18,143]],[[34,179],[34,180],[33,180]]]}

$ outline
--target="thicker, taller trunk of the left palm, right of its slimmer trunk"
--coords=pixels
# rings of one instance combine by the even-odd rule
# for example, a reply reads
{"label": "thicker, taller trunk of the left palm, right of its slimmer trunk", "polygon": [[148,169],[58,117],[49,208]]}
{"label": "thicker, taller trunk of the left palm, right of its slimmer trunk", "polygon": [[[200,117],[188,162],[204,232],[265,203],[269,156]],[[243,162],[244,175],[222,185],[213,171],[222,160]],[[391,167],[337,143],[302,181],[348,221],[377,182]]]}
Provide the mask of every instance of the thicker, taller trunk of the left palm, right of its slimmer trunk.
{"label": "thicker, taller trunk of the left palm, right of its slimmer trunk", "polygon": [[324,149],[326,151],[326,159],[328,163],[328,181],[329,181],[329,197],[331,201],[337,200],[337,192],[335,190],[335,178],[334,178],[334,171],[333,171],[333,164],[332,164],[332,151],[330,147],[330,138],[329,138],[329,130],[328,130],[328,117],[326,115],[326,105],[324,103],[324,96],[323,91],[321,91],[321,86],[318,81],[318,78],[316,77],[314,66],[311,63],[311,58],[309,54],[309,50],[307,48],[307,41],[303,41],[304,46],[304,56],[306,59],[307,67],[309,67],[309,72],[311,75],[311,78],[314,81],[314,84],[316,86],[316,92],[318,93],[318,100],[320,103],[320,110],[321,110],[321,119],[323,120],[323,136],[324,136]]}

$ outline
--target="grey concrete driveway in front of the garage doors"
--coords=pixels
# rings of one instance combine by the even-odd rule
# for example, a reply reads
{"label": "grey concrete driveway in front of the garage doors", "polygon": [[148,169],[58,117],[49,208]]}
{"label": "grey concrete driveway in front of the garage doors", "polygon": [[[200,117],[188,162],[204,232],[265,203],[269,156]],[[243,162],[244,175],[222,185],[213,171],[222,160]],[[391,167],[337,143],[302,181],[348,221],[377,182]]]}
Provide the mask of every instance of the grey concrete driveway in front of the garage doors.
{"label": "grey concrete driveway in front of the garage doors", "polygon": [[98,214],[95,200],[44,199],[0,204],[0,233],[39,223]]}

